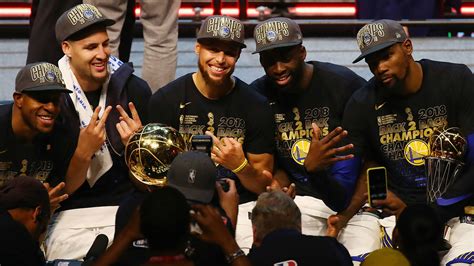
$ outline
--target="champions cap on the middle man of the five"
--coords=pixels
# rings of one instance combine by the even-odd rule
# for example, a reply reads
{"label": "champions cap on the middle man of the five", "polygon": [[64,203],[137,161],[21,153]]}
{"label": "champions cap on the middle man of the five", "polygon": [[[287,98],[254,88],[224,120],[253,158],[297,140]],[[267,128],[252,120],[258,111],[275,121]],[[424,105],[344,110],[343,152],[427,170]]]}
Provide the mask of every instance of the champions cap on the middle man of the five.
{"label": "champions cap on the middle man of the five", "polygon": [[247,47],[244,43],[244,24],[238,19],[228,16],[209,16],[201,24],[197,33],[197,40],[215,39],[236,43],[241,48]]}

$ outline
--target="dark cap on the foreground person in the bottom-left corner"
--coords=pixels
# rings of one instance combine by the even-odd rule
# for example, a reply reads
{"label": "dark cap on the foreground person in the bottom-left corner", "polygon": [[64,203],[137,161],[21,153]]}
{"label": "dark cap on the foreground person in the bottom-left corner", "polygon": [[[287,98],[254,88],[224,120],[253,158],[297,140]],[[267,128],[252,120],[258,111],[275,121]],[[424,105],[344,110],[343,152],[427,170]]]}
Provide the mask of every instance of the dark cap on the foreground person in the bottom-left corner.
{"label": "dark cap on the foreground person in the bottom-left corner", "polygon": [[36,208],[41,206],[49,215],[49,195],[43,184],[30,176],[18,176],[0,187],[0,208]]}

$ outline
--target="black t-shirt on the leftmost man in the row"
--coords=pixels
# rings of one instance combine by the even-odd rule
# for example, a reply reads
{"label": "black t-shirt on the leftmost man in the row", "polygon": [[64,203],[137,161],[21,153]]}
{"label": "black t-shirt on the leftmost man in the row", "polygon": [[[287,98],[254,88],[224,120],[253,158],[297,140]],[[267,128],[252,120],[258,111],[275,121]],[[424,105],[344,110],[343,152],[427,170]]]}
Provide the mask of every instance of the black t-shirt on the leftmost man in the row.
{"label": "black t-shirt on the leftmost man in the row", "polygon": [[0,185],[16,176],[28,175],[56,185],[64,179],[64,158],[74,153],[69,133],[57,118],[50,134],[39,134],[31,143],[15,137],[12,129],[12,104],[0,106]]}

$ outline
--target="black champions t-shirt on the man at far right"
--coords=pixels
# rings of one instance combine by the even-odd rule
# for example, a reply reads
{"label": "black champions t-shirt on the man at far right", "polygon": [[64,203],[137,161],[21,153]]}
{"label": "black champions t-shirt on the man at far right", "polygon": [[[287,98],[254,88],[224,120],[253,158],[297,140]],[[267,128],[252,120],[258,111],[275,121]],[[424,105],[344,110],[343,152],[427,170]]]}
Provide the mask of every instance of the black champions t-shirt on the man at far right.
{"label": "black champions t-shirt on the man at far right", "polygon": [[449,205],[474,192],[474,77],[465,65],[419,63],[423,81],[415,94],[387,98],[375,79],[354,93],[343,120],[349,131],[346,141],[354,144],[354,160],[370,156],[387,167],[389,188],[402,200],[426,203],[424,156],[429,137],[435,128],[459,127],[469,141],[469,152],[463,174],[443,196],[450,200],[438,201]]}

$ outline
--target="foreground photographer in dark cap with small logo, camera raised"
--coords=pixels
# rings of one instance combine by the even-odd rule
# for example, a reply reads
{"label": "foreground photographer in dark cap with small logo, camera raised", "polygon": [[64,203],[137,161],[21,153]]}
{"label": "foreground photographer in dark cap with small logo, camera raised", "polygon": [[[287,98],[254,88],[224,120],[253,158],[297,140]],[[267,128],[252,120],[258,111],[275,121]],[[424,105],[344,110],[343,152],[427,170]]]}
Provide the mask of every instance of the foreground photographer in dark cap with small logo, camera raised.
{"label": "foreground photographer in dark cap with small logo, camera raised", "polygon": [[[173,160],[167,173],[167,186],[176,188],[186,197],[189,204],[205,204],[215,206],[220,210],[220,219],[229,232],[234,235],[239,196],[235,183],[228,182],[228,190],[224,191],[220,183],[216,182],[217,168],[211,158],[200,151],[187,151],[179,154]],[[161,190],[160,187],[150,187],[149,190]],[[153,192],[152,192],[153,193]],[[149,193],[146,193],[149,194]],[[128,225],[134,210],[139,206],[146,194],[135,194],[122,202],[117,211],[116,240],[126,238]],[[196,229],[194,226],[192,229]],[[196,231],[193,231],[196,233]],[[117,235],[118,234],[118,235]],[[128,244],[127,250],[121,256],[124,264],[144,263],[149,255],[145,239],[133,239],[133,245]],[[192,237],[189,239],[186,256],[197,265],[226,265],[225,254],[215,245],[206,244]]]}

